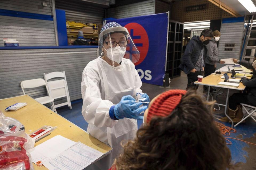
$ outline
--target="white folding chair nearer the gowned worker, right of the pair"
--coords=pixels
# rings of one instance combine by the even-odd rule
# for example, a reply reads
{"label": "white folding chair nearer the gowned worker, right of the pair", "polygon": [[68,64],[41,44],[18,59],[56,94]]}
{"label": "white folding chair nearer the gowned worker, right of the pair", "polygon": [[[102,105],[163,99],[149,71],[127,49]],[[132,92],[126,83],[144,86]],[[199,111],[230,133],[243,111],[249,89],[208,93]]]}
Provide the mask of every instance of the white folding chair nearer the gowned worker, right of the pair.
{"label": "white folding chair nearer the gowned worker, right of the pair", "polygon": [[[67,88],[65,71],[61,71],[61,72],[56,71],[48,74],[43,73],[43,77],[45,78],[45,82],[48,86],[51,97],[53,97],[54,99],[66,97],[67,99],[67,102],[56,104],[55,107],[58,108],[61,106],[68,105],[69,109],[72,109],[70,97],[69,97],[69,89]],[[63,78],[63,79],[48,81],[53,78]]]}

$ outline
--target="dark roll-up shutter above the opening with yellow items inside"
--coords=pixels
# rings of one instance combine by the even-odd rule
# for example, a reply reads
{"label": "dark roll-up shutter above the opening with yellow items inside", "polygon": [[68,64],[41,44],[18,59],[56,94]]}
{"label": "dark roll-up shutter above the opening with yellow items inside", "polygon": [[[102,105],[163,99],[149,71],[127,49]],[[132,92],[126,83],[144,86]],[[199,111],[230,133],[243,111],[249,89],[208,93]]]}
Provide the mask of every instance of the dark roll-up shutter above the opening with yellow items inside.
{"label": "dark roll-up shutter above the opening with yellow items inside", "polygon": [[66,20],[102,24],[104,8],[108,6],[84,1],[55,0],[55,7],[65,10]]}

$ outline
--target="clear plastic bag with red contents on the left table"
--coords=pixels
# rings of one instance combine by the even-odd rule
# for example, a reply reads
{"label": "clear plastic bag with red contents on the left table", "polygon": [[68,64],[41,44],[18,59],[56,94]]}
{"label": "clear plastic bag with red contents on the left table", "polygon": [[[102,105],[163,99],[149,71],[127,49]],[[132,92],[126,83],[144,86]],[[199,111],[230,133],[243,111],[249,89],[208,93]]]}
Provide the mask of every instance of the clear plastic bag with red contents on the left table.
{"label": "clear plastic bag with red contents on the left table", "polygon": [[[10,128],[10,123],[13,125]],[[24,131],[19,131],[21,123],[4,117],[0,113],[0,169],[1,170],[33,170],[29,150],[34,147],[35,140]]]}

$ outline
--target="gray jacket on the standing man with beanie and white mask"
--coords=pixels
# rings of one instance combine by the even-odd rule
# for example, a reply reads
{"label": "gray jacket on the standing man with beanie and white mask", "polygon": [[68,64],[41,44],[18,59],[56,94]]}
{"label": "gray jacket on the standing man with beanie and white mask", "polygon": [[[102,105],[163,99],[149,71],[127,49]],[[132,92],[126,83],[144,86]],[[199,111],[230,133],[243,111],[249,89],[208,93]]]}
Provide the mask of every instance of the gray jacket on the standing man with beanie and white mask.
{"label": "gray jacket on the standing man with beanie and white mask", "polygon": [[207,44],[206,47],[207,47],[207,54],[205,58],[205,63],[210,65],[214,65],[215,63],[218,63],[220,61],[220,59],[218,58],[219,50],[214,38],[210,40],[210,43]]}

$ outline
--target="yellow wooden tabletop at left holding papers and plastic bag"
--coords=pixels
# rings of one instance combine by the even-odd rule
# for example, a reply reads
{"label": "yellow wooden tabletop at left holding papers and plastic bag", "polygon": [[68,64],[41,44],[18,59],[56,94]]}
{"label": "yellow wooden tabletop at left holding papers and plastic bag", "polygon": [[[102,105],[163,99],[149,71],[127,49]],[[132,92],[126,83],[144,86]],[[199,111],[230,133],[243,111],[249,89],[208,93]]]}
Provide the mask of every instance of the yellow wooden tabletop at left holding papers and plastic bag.
{"label": "yellow wooden tabletop at left holding papers and plastic bag", "polygon": [[[17,111],[5,111],[5,109],[18,102],[26,102],[27,106],[17,110]],[[109,145],[99,141],[94,138],[90,134],[88,134],[85,130],[79,128],[77,125],[71,123],[66,120],[59,114],[53,112],[49,108],[44,105],[38,103],[32,97],[28,95],[11,97],[7,99],[0,100],[0,111],[7,117],[13,117],[20,121],[24,126],[26,133],[31,133],[44,125],[48,126],[57,126],[57,128],[51,132],[51,134],[45,138],[42,138],[40,141],[35,143],[35,146],[47,141],[48,139],[61,135],[65,138],[68,138],[72,141],[78,142],[90,146],[100,152],[103,152],[104,155],[98,160],[102,159],[106,155],[112,152],[112,148]],[[31,130],[31,132],[30,132]],[[98,161],[97,160],[97,161]],[[39,167],[35,164],[34,169],[47,169],[42,166]]]}

